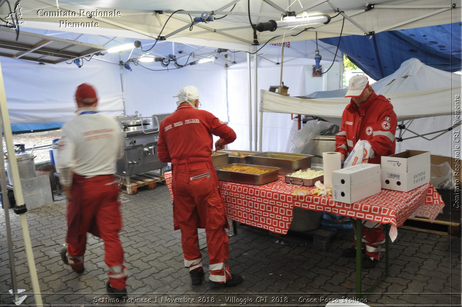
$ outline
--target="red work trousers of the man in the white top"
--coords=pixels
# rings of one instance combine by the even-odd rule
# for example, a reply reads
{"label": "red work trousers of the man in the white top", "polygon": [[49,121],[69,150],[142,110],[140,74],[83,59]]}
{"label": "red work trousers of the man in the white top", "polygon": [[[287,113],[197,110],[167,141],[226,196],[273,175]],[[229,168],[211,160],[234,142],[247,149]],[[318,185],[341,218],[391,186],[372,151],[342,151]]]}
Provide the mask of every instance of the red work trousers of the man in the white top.
{"label": "red work trousers of the man in the white top", "polygon": [[123,249],[118,233],[122,228],[118,195],[117,180],[113,175],[85,178],[74,174],[73,199],[67,206],[66,241],[68,257],[81,258],[83,263],[87,233],[93,233],[103,239],[104,262],[111,271],[115,268],[116,273],[121,273],[117,276],[124,275],[116,281],[109,276],[109,281],[114,288],[123,289],[126,269],[123,265]]}

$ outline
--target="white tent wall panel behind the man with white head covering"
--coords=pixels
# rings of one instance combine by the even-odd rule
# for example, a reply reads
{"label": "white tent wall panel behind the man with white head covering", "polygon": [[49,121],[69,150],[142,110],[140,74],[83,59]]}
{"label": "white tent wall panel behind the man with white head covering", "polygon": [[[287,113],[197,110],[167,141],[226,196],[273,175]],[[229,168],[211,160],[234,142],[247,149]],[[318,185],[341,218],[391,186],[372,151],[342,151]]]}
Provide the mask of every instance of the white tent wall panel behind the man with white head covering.
{"label": "white tent wall panel behind the man with white head covering", "polygon": [[[152,69],[162,69],[159,65],[142,63]],[[170,71],[150,71],[132,65],[132,71],[123,70],[126,113],[135,111],[143,116],[172,113],[176,109],[177,98],[173,98],[184,86],[195,86],[199,90],[201,109],[207,110],[227,121],[226,72],[216,65],[213,68],[172,69]],[[120,83],[120,81],[119,81]]]}

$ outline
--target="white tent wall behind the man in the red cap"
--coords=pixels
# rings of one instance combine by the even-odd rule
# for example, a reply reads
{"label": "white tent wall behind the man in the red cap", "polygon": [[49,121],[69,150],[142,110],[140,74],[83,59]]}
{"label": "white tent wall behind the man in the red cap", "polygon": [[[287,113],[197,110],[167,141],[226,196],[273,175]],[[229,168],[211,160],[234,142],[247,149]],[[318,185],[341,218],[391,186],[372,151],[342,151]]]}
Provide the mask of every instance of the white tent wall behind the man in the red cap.
{"label": "white tent wall behind the man in the red cap", "polygon": [[117,116],[123,110],[119,67],[88,61],[45,64],[2,58],[8,111],[12,124],[66,122],[75,117],[74,93],[84,82],[97,89],[101,111]]}

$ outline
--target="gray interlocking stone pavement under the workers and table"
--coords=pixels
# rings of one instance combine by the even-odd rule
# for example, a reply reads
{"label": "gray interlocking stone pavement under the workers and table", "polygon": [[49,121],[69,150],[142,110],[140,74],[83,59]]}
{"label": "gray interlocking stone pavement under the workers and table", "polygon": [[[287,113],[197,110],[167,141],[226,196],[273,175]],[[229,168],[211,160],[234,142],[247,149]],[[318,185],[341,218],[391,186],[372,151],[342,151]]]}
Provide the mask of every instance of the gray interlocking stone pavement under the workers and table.
{"label": "gray interlocking stone pavement under the workers and table", "polygon": [[[353,300],[354,259],[342,258],[353,233],[340,232],[328,251],[289,243],[238,228],[230,238],[231,272],[244,278],[234,288],[210,289],[190,284],[183,268],[180,232],[173,230],[171,198],[166,186],[121,193],[124,228],[120,233],[128,266],[129,301],[114,302],[105,294],[107,268],[103,242],[89,235],[85,272],[74,273],[61,262],[65,243],[66,203],[30,210],[29,225],[36,270],[46,306],[325,306],[328,300]],[[35,305],[19,218],[10,209],[18,288]],[[205,235],[200,232],[200,244]],[[390,244],[390,271],[367,297],[369,306],[460,306],[461,239],[399,229]],[[202,250],[208,272],[207,248]],[[363,272],[363,289],[384,274],[384,261]],[[0,210],[0,304],[15,306],[3,209]],[[23,294],[21,294],[23,295]],[[192,301],[194,299],[194,301]],[[305,299],[303,302],[302,300]]]}

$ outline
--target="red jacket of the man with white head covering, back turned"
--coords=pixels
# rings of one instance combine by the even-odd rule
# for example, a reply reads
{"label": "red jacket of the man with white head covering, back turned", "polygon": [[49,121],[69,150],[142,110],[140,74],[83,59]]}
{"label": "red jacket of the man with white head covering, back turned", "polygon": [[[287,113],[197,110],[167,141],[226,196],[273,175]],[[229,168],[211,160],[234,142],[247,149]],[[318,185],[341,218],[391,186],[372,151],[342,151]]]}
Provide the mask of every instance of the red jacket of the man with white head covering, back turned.
{"label": "red jacket of the man with white head covering, back turned", "polygon": [[[213,148],[212,134],[219,136],[222,145],[236,140],[236,133],[212,113],[180,104],[166,117],[159,128],[157,155],[162,162],[173,165],[210,160]],[[180,161],[179,161],[180,160]]]}

